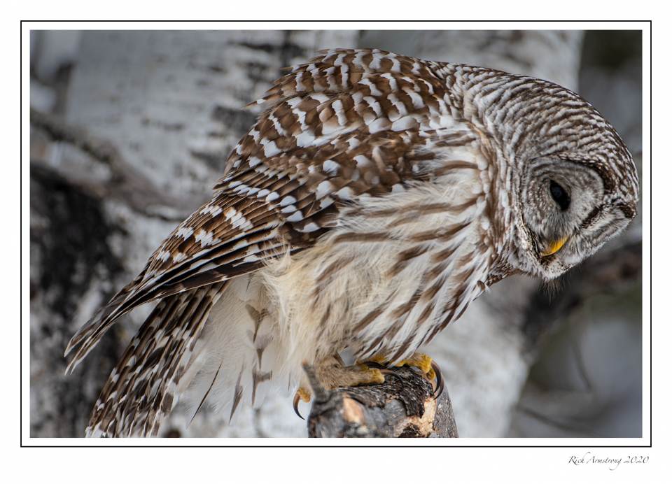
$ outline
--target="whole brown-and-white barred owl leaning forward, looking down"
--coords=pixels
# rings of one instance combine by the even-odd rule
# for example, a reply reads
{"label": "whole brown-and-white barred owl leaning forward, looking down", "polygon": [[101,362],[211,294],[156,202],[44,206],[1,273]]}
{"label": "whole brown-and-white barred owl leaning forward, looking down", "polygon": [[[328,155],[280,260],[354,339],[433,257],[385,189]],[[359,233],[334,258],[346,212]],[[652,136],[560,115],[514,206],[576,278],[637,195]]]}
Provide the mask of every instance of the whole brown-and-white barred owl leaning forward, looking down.
{"label": "whole brown-and-white barred owl leaning forward, looking down", "polygon": [[328,385],[379,382],[339,352],[412,361],[490,285],[556,278],[636,213],[621,138],[544,80],[336,49],[253,104],[211,200],[66,348],[72,371],[158,301],[87,435],[156,435],[183,394],[228,416],[268,392],[307,399],[304,362]]}

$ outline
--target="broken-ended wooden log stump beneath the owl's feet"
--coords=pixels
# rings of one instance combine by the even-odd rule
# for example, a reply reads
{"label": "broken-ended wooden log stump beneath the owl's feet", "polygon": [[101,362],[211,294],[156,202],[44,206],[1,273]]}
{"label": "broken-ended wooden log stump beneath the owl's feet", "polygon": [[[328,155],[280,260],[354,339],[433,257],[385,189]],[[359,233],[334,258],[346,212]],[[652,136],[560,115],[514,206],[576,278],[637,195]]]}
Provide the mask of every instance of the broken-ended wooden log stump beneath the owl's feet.
{"label": "broken-ended wooden log stump beneath the owl's feet", "polygon": [[322,387],[309,366],[304,370],[313,390],[310,437],[458,436],[448,391],[434,399],[428,380],[407,366],[390,369],[381,385],[334,390]]}

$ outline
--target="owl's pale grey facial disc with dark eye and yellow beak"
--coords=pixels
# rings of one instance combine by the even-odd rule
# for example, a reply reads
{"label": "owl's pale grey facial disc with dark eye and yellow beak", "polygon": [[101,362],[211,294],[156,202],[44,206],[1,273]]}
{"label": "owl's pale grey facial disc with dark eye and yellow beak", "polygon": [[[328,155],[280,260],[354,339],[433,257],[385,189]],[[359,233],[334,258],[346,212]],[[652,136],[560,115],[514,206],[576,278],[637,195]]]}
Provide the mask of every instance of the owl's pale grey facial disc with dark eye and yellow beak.
{"label": "owl's pale grey facial disc with dark eye and yellow beak", "polygon": [[[616,173],[598,169],[589,153],[575,155],[532,159],[521,180],[522,268],[545,279],[582,262],[636,215],[637,192],[618,193]],[[633,166],[629,155],[620,161]]]}

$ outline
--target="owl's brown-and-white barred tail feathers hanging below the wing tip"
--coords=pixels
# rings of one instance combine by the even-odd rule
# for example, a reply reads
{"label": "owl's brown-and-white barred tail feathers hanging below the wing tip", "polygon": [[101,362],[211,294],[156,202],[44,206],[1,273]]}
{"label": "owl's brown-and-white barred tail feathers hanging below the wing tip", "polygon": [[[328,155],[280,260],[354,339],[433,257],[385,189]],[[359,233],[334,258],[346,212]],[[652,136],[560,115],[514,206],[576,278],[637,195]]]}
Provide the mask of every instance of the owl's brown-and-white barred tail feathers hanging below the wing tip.
{"label": "owl's brown-and-white barred tail feathers hanging below the wing tip", "polygon": [[156,436],[176,404],[196,342],[225,283],[162,299],[141,326],[94,406],[87,436]]}

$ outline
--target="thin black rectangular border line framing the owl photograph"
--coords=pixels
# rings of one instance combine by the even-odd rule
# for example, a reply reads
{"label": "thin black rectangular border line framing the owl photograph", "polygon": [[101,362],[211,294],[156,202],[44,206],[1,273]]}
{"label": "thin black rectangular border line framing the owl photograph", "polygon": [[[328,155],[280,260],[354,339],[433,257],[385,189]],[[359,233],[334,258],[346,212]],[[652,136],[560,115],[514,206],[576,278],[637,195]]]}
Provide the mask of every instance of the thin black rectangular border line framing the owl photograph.
{"label": "thin black rectangular border line framing the owl photograph", "polygon": [[[50,20],[20,20],[19,21],[19,45],[20,45],[20,51],[19,51],[19,120],[20,120],[20,127],[19,127],[19,152],[20,152],[20,157],[23,159],[23,118],[22,118],[22,113],[23,113],[23,86],[22,86],[22,67],[23,67],[23,57],[22,57],[22,43],[23,43],[23,22],[52,22]],[[58,22],[106,22],[109,23],[107,20],[59,20]],[[183,23],[183,22],[232,22],[231,20],[228,21],[211,21],[211,20],[116,20],[114,22],[144,22],[144,23],[152,23],[152,22],[178,22],[178,23]],[[236,22],[245,22],[245,20],[236,20]],[[273,21],[269,21],[273,22]],[[276,22],[283,22],[283,21],[276,21]],[[300,20],[300,22],[316,22],[314,20]],[[337,20],[336,22],[353,22],[349,20]],[[356,22],[356,21],[355,21]],[[359,22],[365,22],[365,21],[359,21]],[[392,20],[391,22],[405,22],[403,20]],[[435,22],[433,20],[415,20],[414,22]],[[448,21],[446,21],[448,22]],[[496,22],[496,20],[458,20],[457,22]],[[512,22],[551,22],[547,20],[512,20]],[[653,159],[653,21],[652,20],[554,20],[552,21],[553,23],[556,22],[643,22],[643,23],[648,23],[649,24],[649,154],[650,154],[650,160]],[[594,29],[598,30],[598,29]],[[610,30],[610,29],[609,29]],[[653,163],[652,161],[650,162],[650,168],[649,168],[649,194],[650,198],[652,198],[652,192],[653,192]],[[20,193],[20,202],[23,200],[23,193],[22,193],[22,181],[23,181],[23,173],[21,171],[21,164],[19,164],[19,193]],[[653,240],[652,240],[652,235],[653,235],[653,204],[650,204],[649,206],[649,249],[650,249],[650,260],[649,260],[649,287],[652,287],[653,285]],[[23,218],[22,218],[22,213],[20,211],[19,213],[19,220],[20,220],[20,225],[23,227]],[[19,230],[19,239],[20,239],[20,248],[19,248],[19,264],[21,264],[22,260],[22,252],[23,252],[23,236],[22,236],[22,230]],[[462,445],[456,445],[456,446],[358,446],[358,445],[352,445],[352,446],[229,446],[229,445],[223,445],[223,446],[183,446],[183,445],[178,445],[178,446],[58,446],[58,445],[53,445],[53,446],[45,446],[45,445],[24,445],[23,443],[23,381],[22,381],[22,375],[23,375],[23,315],[21,313],[21,301],[23,299],[23,269],[22,266],[20,265],[20,285],[19,285],[19,320],[20,320],[20,329],[19,329],[19,341],[20,341],[20,348],[19,348],[19,355],[20,355],[20,362],[19,362],[19,401],[20,401],[20,407],[19,407],[19,436],[20,436],[20,448],[190,448],[190,447],[195,447],[195,448],[316,448],[316,447],[324,447],[324,448],[339,448],[339,447],[344,447],[344,448],[386,448],[386,447],[398,447],[398,448],[421,448],[421,447],[437,447],[437,448],[451,448],[451,447],[456,447],[456,448],[652,448],[653,446],[653,313],[652,313],[652,308],[653,308],[653,292],[650,290],[649,291],[649,308],[650,308],[650,316],[649,316],[649,443],[648,445],[638,445],[638,446],[462,446]],[[502,439],[505,439],[505,437],[502,437]]]}

